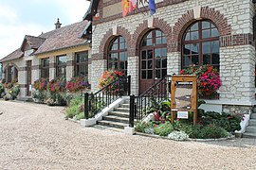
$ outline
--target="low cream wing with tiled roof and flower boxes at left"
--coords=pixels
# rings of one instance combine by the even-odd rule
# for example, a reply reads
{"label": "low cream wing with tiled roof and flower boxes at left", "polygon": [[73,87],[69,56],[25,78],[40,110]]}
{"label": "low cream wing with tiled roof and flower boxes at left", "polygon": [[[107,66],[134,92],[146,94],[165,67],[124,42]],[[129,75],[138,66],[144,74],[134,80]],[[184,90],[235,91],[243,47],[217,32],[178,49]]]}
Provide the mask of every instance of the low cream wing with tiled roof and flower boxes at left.
{"label": "low cream wing with tiled roof and flower boxes at left", "polygon": [[37,37],[26,35],[20,48],[0,59],[3,78],[18,80],[19,99],[31,97],[32,83],[40,77],[88,76],[90,42],[81,38],[87,21],[61,25],[58,19],[56,29]]}

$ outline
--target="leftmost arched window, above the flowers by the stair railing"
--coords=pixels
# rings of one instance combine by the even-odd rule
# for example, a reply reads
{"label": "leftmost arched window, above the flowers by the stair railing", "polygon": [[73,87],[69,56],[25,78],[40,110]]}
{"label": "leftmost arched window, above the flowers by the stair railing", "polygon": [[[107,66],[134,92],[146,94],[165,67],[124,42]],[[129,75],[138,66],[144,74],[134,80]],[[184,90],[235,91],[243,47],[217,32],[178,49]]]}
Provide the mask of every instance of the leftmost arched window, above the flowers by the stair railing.
{"label": "leftmost arched window, above the flowers by the stair railing", "polygon": [[127,46],[123,37],[116,37],[108,49],[107,69],[119,70],[127,75]]}

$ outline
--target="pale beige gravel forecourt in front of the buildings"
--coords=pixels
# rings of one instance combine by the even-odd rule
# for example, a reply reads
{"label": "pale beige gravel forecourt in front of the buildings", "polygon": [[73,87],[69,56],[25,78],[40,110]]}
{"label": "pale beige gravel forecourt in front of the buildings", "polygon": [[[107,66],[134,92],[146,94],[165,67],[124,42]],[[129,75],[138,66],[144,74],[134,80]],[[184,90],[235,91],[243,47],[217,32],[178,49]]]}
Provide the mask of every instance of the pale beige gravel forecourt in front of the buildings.
{"label": "pale beige gravel forecourt in front of the buildings", "polygon": [[256,169],[256,140],[174,142],[64,120],[64,108],[0,100],[0,169]]}

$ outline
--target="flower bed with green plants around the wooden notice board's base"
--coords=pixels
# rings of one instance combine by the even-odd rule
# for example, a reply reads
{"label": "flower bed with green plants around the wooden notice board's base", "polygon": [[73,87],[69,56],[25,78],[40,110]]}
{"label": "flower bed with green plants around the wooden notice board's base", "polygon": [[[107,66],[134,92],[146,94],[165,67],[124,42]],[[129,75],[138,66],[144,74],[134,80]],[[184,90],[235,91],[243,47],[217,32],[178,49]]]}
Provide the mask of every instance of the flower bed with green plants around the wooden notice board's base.
{"label": "flower bed with green plants around the wooden notice board's base", "polygon": [[[203,102],[201,102],[203,103]],[[171,124],[170,101],[162,102],[150,108],[152,118],[148,116],[137,122],[136,131],[151,135],[164,136],[176,141],[188,139],[220,139],[229,138],[235,130],[239,130],[243,120],[241,114],[198,111],[198,125],[192,125],[192,112],[188,119],[177,119]]]}

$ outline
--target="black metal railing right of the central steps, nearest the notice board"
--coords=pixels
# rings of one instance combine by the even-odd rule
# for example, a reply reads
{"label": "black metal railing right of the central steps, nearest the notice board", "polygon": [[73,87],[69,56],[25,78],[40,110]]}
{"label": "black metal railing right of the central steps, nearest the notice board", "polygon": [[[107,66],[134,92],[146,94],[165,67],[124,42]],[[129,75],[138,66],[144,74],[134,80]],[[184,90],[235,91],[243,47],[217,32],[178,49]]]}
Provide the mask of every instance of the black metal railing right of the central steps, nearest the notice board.
{"label": "black metal railing right of the central steps, nearest the notice board", "polygon": [[147,91],[139,96],[130,95],[129,127],[134,127],[134,120],[142,120],[156,103],[161,103],[171,97],[171,77],[164,76]]}

